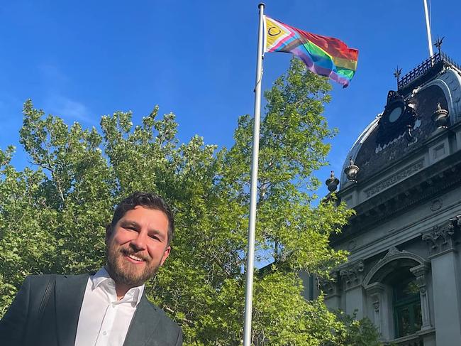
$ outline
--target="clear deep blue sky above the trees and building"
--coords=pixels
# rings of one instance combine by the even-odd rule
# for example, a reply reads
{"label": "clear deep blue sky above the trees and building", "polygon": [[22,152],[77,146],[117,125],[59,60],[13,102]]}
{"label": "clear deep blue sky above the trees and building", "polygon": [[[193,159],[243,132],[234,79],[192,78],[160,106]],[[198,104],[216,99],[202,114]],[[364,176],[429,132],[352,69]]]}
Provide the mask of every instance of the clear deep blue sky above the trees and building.
{"label": "clear deep blue sky above the trees and building", "polygon": [[[3,1],[0,4],[0,148],[13,144],[18,169],[22,104],[67,124],[98,126],[101,115],[155,104],[173,112],[179,139],[231,146],[238,116],[252,114],[259,1]],[[428,0],[428,3],[431,1]],[[358,48],[350,87],[333,85],[325,115],[339,134],[331,166],[340,175],[350,146],[382,112],[405,74],[428,57],[422,0],[265,1],[265,13],[291,26],[340,38]],[[345,5],[347,4],[347,5]],[[461,62],[461,1],[431,4],[433,40]],[[289,54],[265,55],[263,90],[289,66]],[[321,195],[326,194],[322,188]]]}

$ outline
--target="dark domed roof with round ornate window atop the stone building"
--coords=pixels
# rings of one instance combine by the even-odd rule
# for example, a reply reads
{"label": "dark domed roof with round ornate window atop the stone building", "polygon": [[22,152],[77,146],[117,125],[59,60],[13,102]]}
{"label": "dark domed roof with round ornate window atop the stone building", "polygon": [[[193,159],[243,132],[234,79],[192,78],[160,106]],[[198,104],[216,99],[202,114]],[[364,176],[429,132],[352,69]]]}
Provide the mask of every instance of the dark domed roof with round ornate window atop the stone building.
{"label": "dark domed roof with round ornate window atop the stone building", "polygon": [[430,66],[426,78],[423,77],[420,75],[401,88],[399,85],[396,92],[389,91],[384,111],[362,131],[345,158],[340,190],[352,184],[345,174],[351,160],[359,168],[354,180],[365,183],[425,145],[440,128],[433,117],[438,110],[448,112],[446,126],[461,120],[460,70],[442,55],[439,65]]}

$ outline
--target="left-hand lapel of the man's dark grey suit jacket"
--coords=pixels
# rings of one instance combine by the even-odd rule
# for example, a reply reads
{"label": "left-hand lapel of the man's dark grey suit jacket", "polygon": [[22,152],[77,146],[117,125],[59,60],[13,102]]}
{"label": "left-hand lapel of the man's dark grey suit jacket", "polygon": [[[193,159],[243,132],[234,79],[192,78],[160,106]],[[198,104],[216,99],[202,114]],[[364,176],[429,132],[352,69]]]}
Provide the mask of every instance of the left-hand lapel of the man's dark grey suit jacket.
{"label": "left-hand lapel of the man's dark grey suit jacket", "polygon": [[61,346],[73,346],[77,334],[80,308],[82,307],[88,274],[61,276],[56,281],[57,342]]}

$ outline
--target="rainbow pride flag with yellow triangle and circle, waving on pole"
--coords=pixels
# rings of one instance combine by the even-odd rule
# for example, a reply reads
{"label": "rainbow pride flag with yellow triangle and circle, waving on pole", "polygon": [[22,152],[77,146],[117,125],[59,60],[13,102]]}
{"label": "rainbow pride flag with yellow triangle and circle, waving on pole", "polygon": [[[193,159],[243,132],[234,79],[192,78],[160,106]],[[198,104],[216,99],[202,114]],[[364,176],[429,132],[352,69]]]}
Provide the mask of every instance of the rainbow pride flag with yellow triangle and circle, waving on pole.
{"label": "rainbow pride flag with yellow triangle and circle, waving on pole", "polygon": [[359,51],[338,38],[316,35],[265,16],[265,51],[292,53],[317,75],[347,87],[357,70]]}

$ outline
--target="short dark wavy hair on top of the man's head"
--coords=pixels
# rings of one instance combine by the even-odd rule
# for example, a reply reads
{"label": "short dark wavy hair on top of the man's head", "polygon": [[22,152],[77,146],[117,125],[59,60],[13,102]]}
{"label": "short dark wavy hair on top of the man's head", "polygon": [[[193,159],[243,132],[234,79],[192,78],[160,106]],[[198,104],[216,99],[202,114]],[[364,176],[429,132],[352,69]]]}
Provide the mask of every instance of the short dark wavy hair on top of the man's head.
{"label": "short dark wavy hair on top of the man's head", "polygon": [[168,218],[168,241],[167,244],[170,245],[173,234],[174,234],[174,215],[170,206],[167,205],[167,202],[163,200],[159,195],[155,195],[154,193],[145,193],[142,191],[136,191],[132,193],[127,198],[122,200],[118,203],[115,212],[113,212],[113,217],[111,221],[111,230],[114,229],[115,225],[117,224],[118,220],[120,220],[123,215],[128,212],[128,210],[133,210],[135,207],[140,205],[141,207],[145,207],[148,209],[153,210],[160,210],[167,215]]}

